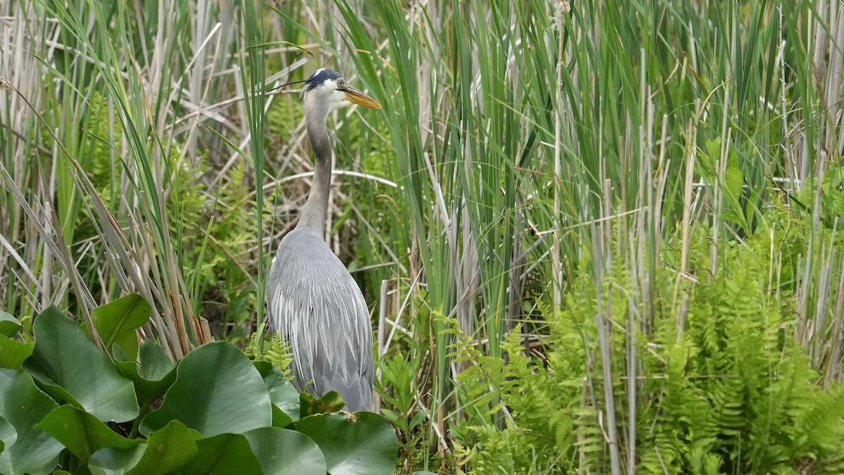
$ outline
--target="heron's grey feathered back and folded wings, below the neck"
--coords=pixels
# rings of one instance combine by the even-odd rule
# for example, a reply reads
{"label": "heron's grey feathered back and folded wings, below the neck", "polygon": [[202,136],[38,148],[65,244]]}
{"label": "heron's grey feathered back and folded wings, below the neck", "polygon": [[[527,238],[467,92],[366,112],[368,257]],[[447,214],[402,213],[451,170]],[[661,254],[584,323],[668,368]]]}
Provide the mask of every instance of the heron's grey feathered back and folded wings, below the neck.
{"label": "heron's grey feathered back and folded wings, below the neck", "polygon": [[[279,244],[267,277],[268,325],[294,356],[294,384],[336,390],[349,411],[370,411],[372,325],[360,288],[327,244],[306,229]],[[313,380],[313,385],[305,385]]]}

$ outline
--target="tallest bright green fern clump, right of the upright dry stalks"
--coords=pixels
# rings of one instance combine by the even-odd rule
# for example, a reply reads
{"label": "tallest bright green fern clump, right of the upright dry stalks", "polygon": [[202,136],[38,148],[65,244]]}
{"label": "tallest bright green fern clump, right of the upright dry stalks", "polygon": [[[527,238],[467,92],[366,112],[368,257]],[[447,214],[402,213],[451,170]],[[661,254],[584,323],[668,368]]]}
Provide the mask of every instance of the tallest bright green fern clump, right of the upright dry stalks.
{"label": "tallest bright green fern clump, right of the upright dry stalks", "polygon": [[[740,249],[695,289],[682,335],[660,330],[663,361],[643,358],[647,374],[665,374],[642,385],[659,408],[639,417],[645,427],[654,424],[639,434],[641,467],[650,472],[660,472],[661,463],[690,472],[782,472],[809,457],[832,470],[844,460],[840,423],[812,440],[798,435],[816,428],[814,410],[844,417],[841,387],[827,392],[818,385],[794,339],[793,315],[784,317],[766,295],[766,260]],[[662,461],[647,443],[659,447]]]}

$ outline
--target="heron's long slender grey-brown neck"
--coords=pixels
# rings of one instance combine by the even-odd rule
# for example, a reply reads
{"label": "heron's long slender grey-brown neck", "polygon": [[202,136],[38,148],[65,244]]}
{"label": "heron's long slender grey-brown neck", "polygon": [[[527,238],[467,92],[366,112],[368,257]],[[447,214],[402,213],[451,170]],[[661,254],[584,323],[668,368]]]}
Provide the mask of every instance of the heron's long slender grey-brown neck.
{"label": "heron's long slender grey-brown neck", "polygon": [[316,163],[314,165],[314,179],[311,193],[296,229],[306,228],[321,236],[325,232],[325,220],[328,215],[328,192],[331,189],[331,141],[328,139],[325,122],[312,123],[308,121],[308,138],[311,139],[311,149],[314,150]]}

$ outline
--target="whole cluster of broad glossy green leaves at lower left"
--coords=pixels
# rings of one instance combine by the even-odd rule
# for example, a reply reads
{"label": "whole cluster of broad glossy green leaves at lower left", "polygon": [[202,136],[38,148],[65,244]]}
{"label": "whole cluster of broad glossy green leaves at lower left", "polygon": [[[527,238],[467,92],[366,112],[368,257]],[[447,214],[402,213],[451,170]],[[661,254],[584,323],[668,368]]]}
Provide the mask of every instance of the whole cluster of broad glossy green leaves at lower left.
{"label": "whole cluster of broad glossy green leaves at lower left", "polygon": [[[135,294],[95,309],[114,360],[57,308],[35,319],[23,369],[0,369],[0,472],[393,472],[384,418],[300,405],[279,369],[226,342],[171,363],[154,342],[127,338],[149,311]],[[11,333],[14,319],[2,321]]]}

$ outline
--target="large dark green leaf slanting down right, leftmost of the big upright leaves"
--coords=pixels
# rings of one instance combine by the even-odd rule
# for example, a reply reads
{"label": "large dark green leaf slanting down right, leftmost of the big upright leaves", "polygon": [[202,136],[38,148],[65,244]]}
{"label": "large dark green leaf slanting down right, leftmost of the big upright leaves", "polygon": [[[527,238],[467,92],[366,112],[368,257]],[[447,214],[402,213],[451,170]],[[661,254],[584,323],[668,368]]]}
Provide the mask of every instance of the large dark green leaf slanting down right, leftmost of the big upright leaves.
{"label": "large dark green leaf slanting down right, leftmost of the big upright leaves", "polygon": [[122,423],[138,417],[132,381],[117,372],[76,322],[50,307],[35,318],[34,329],[35,351],[24,370],[51,396],[101,421]]}

